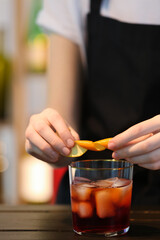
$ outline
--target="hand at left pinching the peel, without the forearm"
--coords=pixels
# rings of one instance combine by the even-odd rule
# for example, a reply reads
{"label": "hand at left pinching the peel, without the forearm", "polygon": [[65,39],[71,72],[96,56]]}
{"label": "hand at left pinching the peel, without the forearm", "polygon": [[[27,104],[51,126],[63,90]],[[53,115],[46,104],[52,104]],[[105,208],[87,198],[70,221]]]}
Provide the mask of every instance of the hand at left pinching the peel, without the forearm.
{"label": "hand at left pinching the peel, without the forearm", "polygon": [[79,140],[79,135],[56,110],[48,108],[30,118],[25,147],[32,156],[55,163],[70,153],[74,140]]}

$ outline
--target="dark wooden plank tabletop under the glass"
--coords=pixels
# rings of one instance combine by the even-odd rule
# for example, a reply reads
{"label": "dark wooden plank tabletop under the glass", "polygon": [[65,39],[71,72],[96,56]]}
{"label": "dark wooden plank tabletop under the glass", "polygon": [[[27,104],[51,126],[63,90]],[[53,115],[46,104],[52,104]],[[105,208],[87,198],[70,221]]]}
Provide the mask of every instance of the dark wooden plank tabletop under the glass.
{"label": "dark wooden plank tabletop under the glass", "polygon": [[[151,209],[151,208],[148,208]],[[0,205],[0,240],[79,240],[72,230],[70,206],[64,205]],[[94,237],[94,240],[106,239]],[[111,239],[111,238],[109,238]],[[160,240],[160,208],[132,210],[129,232],[124,240]]]}

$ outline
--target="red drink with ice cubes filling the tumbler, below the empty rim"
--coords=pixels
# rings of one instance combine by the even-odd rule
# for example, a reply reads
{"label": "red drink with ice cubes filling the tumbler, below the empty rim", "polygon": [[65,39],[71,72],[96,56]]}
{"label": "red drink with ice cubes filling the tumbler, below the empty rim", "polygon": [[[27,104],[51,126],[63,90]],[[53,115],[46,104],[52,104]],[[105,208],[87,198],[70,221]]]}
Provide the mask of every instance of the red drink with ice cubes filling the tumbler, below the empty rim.
{"label": "red drink with ice cubes filling the tumbler, below the empty rim", "polygon": [[128,231],[132,179],[112,177],[93,181],[75,176],[70,188],[75,232],[114,236]]}

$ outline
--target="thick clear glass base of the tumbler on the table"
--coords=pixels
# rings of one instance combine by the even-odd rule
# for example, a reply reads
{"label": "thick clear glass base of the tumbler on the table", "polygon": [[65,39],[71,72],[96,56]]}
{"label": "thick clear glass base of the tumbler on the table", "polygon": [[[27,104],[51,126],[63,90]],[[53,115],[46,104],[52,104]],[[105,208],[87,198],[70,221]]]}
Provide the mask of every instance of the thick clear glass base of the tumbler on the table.
{"label": "thick clear glass base of the tumbler on the table", "polygon": [[76,230],[73,229],[73,231],[75,233],[77,233],[78,235],[83,235],[83,236],[95,236],[95,235],[101,235],[101,236],[105,236],[105,237],[116,237],[116,236],[121,236],[126,234],[129,231],[129,227],[122,229],[120,231],[116,231],[116,232],[102,232],[102,233],[98,233],[98,232],[77,232]]}

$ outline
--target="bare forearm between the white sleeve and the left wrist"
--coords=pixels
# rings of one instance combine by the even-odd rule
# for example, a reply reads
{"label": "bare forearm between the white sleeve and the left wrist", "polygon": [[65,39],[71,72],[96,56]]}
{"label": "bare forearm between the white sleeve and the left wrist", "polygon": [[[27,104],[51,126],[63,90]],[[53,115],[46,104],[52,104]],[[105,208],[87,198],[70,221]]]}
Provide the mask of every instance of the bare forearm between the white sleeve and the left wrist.
{"label": "bare forearm between the white sleeve and the left wrist", "polygon": [[48,105],[78,129],[82,76],[79,47],[59,35],[52,35],[49,48]]}

